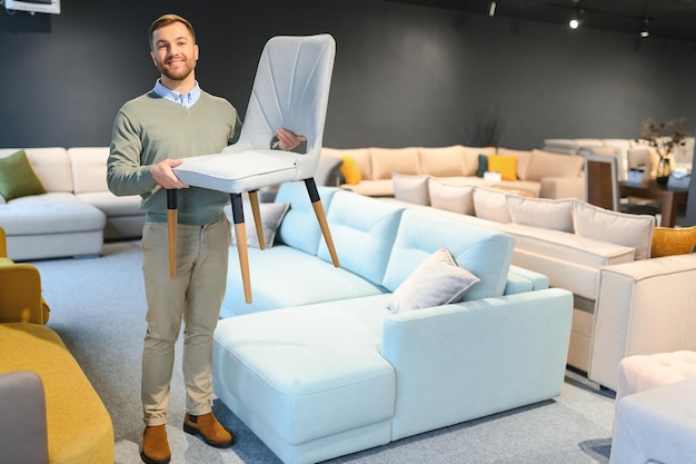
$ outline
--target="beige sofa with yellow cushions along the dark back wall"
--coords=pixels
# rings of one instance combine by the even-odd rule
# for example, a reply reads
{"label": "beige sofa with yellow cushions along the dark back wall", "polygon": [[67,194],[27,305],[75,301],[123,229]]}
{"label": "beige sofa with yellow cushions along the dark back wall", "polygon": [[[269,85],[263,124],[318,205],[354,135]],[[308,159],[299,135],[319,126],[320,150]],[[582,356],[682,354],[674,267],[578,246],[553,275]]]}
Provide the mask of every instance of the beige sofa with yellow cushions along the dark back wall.
{"label": "beige sofa with yellow cushions along the dark back wall", "polygon": [[[491,180],[478,177],[479,155],[500,155],[515,159],[515,178]],[[583,198],[583,158],[543,150],[514,150],[503,147],[407,147],[355,148],[325,147],[322,157],[344,159],[357,165],[360,181],[341,187],[372,197],[394,196],[391,174],[434,176],[454,185],[483,185],[516,190],[530,197]],[[345,161],[346,162],[346,161]]]}

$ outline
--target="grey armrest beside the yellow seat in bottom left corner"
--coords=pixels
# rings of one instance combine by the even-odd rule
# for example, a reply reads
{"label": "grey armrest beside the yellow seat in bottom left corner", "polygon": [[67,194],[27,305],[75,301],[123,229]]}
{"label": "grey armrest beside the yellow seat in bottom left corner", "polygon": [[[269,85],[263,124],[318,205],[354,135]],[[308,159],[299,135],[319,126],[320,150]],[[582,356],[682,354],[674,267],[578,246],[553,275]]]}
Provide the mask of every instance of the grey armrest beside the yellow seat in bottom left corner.
{"label": "grey armrest beside the yellow seat in bottom left corner", "polygon": [[0,375],[0,431],[2,462],[48,464],[46,394],[32,372]]}

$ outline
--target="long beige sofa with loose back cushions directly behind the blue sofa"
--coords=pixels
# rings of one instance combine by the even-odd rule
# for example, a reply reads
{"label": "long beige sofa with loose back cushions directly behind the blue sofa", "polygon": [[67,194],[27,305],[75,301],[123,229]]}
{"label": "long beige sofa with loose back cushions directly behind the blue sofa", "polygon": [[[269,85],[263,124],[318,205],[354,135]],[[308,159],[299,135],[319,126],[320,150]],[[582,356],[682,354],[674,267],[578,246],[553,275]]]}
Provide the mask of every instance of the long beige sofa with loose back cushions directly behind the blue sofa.
{"label": "long beige sofa with loose back cushions directly behind the blue sofa", "polygon": [[[385,200],[515,237],[513,264],[549,277],[574,294],[568,365],[615,389],[622,358],[696,349],[696,255],[650,258],[652,216],[594,207],[578,199],[550,200],[486,187],[447,186],[429,178],[410,196]],[[428,188],[429,205],[416,190]],[[422,194],[420,194],[422,195]]]}

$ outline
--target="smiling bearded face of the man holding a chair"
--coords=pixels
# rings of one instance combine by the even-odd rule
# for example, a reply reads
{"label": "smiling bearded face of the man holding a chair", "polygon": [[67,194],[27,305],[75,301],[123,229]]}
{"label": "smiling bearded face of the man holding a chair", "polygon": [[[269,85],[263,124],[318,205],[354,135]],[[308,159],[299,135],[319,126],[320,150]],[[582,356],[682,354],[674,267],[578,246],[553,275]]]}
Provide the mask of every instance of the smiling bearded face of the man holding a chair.
{"label": "smiling bearded face of the man holding a chair", "polygon": [[196,68],[198,46],[186,26],[172,22],[155,31],[150,55],[165,78],[183,81]]}

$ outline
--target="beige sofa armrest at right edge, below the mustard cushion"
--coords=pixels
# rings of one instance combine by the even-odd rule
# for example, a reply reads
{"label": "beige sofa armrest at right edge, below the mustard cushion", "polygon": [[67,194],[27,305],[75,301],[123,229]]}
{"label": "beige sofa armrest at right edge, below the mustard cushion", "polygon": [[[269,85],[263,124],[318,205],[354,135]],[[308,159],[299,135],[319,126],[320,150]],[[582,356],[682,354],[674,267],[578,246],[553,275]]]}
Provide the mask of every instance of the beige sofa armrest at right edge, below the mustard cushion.
{"label": "beige sofa armrest at right edge, below the mustard cushion", "polygon": [[605,266],[588,377],[616,389],[626,356],[696,349],[696,254]]}

